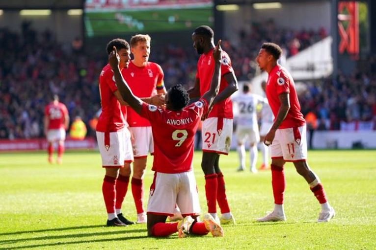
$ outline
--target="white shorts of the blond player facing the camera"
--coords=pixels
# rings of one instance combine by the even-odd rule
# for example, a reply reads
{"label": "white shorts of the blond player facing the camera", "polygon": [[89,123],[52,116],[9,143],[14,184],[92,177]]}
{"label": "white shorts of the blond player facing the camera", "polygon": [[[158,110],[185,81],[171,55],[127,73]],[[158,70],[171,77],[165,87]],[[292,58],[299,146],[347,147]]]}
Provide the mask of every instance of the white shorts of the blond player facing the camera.
{"label": "white shorts of the blond player facing the camera", "polygon": [[143,158],[149,153],[154,153],[152,127],[130,127],[129,130],[134,136],[132,144],[134,158]]}

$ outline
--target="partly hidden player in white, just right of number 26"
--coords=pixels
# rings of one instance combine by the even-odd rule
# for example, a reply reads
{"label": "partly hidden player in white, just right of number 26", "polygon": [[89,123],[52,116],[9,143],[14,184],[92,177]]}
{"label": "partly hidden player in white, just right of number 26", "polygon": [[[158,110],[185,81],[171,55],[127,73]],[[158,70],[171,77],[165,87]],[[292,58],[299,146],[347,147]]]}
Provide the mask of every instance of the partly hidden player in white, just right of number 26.
{"label": "partly hidden player in white, just right of number 26", "polygon": [[[267,82],[263,81],[261,83],[261,88],[265,92]],[[269,147],[263,143],[265,136],[268,134],[269,129],[273,125],[274,115],[271,111],[269,103],[264,103],[263,108],[261,109],[261,125],[260,125],[260,147],[263,153],[263,164],[260,167],[260,170],[269,169]]]}

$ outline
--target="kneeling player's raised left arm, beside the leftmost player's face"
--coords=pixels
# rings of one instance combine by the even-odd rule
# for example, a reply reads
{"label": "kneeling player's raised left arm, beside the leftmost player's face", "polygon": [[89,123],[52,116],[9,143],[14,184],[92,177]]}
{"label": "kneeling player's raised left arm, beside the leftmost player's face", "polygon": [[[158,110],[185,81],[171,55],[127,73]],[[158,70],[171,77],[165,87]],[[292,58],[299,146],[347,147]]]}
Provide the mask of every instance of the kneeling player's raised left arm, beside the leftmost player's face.
{"label": "kneeling player's raised left arm, beside the leftmost player's face", "polygon": [[132,93],[127,82],[124,80],[120,72],[119,62],[120,57],[117,54],[116,47],[114,46],[112,52],[108,55],[108,63],[112,68],[116,86],[124,101],[126,101],[129,104],[129,106],[131,106],[134,109],[135,112],[140,114],[142,109],[142,101]]}

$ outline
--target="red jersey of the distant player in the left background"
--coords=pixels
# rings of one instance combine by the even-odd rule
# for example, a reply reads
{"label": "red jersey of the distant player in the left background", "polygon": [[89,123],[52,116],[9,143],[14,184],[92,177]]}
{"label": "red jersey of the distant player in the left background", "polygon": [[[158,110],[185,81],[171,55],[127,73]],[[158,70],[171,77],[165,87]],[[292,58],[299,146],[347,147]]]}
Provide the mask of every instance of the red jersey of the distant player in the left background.
{"label": "red jersey of the distant player in the left background", "polygon": [[68,114],[67,107],[59,102],[55,105],[53,102],[46,106],[44,114],[48,116],[49,125],[47,129],[65,128],[65,115]]}

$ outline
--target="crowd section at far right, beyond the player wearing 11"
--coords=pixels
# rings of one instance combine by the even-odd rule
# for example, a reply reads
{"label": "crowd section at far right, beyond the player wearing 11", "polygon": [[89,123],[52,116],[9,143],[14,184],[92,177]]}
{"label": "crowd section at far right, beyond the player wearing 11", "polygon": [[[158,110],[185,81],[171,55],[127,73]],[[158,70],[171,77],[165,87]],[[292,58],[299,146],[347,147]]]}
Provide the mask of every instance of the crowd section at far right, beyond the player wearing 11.
{"label": "crowd section at far right, beyond the player wearing 11", "polygon": [[376,57],[368,69],[349,76],[339,73],[337,80],[308,83],[299,96],[302,113],[317,116],[318,130],[376,129]]}

